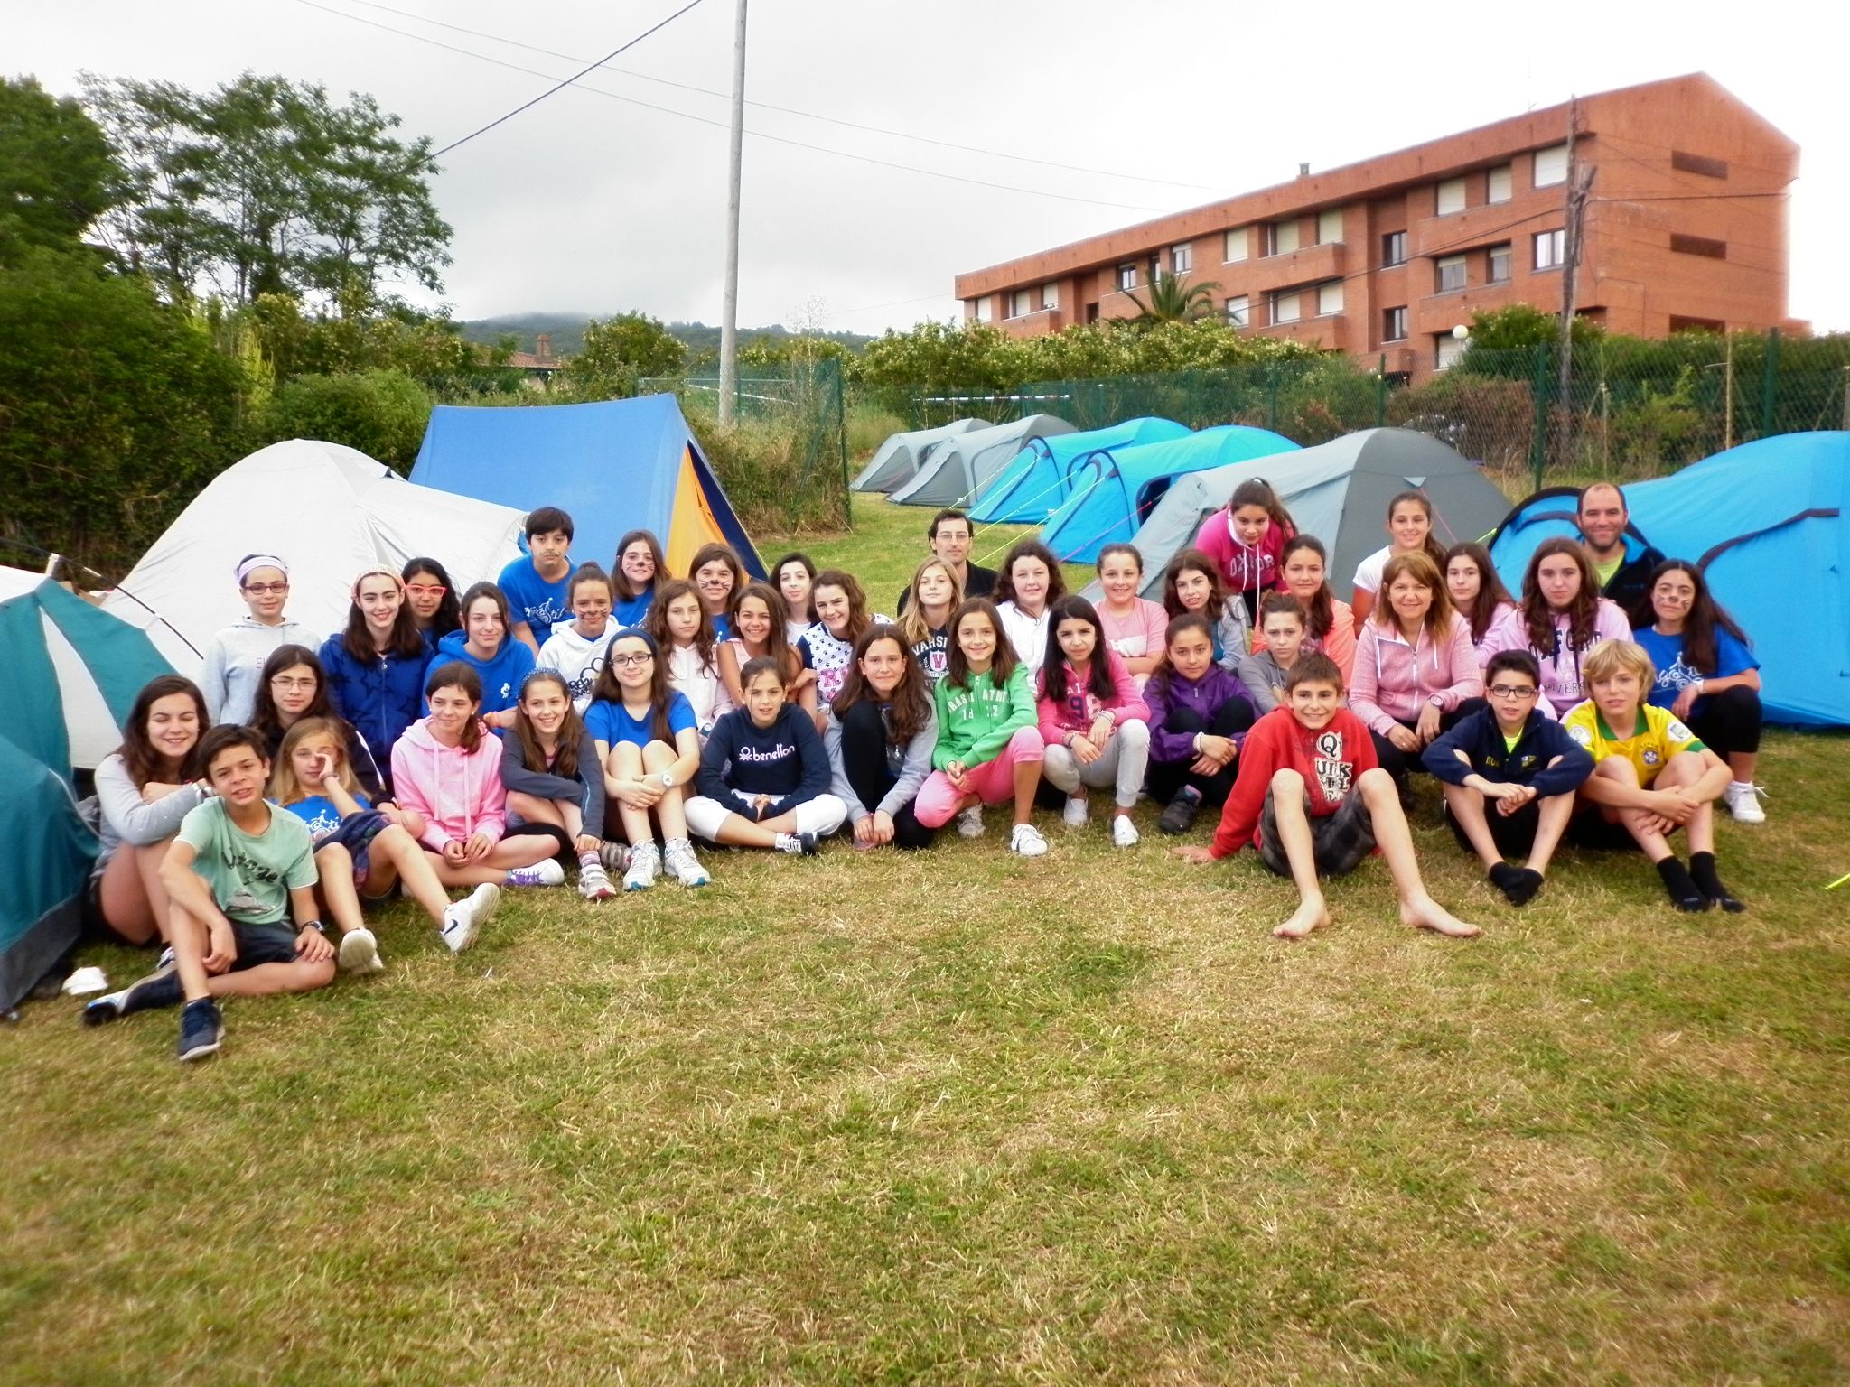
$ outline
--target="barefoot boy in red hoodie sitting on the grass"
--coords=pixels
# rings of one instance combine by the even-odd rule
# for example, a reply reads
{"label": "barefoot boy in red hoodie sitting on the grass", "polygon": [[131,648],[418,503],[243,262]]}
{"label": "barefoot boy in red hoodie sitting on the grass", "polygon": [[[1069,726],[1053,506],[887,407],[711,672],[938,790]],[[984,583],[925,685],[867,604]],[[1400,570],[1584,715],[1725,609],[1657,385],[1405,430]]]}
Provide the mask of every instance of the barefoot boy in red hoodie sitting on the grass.
{"label": "barefoot boy in red hoodie sitting on the grass", "polygon": [[1369,729],[1343,706],[1336,660],[1301,655],[1286,675],[1284,699],[1247,732],[1214,847],[1178,847],[1175,854],[1215,862],[1247,843],[1258,847],[1267,867],[1297,882],[1299,906],[1273,934],[1301,939],[1330,923],[1319,877],[1354,871],[1378,845],[1402,925],[1458,939],[1478,934],[1426,893],[1400,793],[1375,760]]}

